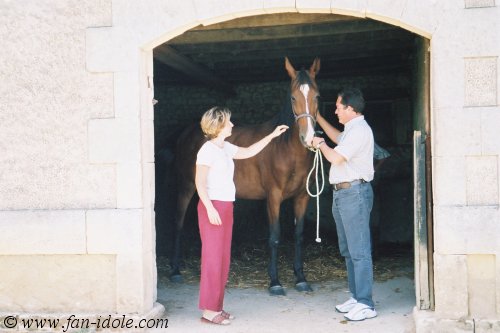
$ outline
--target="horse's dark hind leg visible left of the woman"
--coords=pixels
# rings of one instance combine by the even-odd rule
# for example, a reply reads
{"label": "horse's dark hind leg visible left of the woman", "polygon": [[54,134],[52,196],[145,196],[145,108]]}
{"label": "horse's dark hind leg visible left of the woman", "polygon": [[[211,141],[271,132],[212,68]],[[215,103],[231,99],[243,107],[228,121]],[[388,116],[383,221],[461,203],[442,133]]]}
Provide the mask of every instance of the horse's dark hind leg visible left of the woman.
{"label": "horse's dark hind leg visible left of the woman", "polygon": [[179,188],[179,192],[177,194],[177,209],[174,219],[174,249],[170,259],[170,281],[172,282],[182,282],[179,264],[181,257],[182,228],[184,226],[186,210],[194,192],[194,184],[185,184]]}

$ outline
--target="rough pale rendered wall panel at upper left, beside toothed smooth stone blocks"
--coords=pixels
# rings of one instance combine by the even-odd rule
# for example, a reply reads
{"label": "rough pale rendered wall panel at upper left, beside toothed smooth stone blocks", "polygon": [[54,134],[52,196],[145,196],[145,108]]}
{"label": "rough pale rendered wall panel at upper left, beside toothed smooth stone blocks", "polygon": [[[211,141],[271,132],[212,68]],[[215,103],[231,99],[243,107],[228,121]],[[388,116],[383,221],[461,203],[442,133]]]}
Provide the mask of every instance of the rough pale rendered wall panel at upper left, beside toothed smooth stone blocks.
{"label": "rough pale rendered wall panel at upper left, beside toothed smooth stone blocks", "polygon": [[0,210],[116,205],[111,165],[89,164],[87,123],[113,116],[113,76],[85,70],[85,29],[105,1],[3,3]]}

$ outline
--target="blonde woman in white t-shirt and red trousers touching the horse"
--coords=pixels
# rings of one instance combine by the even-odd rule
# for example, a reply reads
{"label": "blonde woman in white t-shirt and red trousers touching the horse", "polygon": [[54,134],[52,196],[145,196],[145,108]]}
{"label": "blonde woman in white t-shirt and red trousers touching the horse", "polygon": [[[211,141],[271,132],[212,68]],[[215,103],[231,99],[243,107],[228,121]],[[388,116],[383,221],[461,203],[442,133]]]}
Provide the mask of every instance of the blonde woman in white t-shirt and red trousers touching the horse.
{"label": "blonde woman in white t-shirt and red trousers touching the horse", "polygon": [[229,277],[231,238],[233,230],[234,186],[233,159],[255,156],[271,140],[288,129],[276,129],[249,147],[238,147],[226,138],[231,135],[231,111],[213,107],[201,118],[201,129],[208,141],[200,148],[196,159],[196,190],[198,224],[202,243],[199,308],[202,321],[228,325],[234,319],[223,310],[224,290]]}

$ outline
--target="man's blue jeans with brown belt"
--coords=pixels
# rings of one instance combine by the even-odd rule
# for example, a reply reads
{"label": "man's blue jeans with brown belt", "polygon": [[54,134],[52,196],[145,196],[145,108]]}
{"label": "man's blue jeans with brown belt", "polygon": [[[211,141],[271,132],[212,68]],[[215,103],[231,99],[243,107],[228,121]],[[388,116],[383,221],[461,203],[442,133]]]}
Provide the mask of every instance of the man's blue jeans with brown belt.
{"label": "man's blue jeans with brown belt", "polygon": [[349,290],[359,303],[374,307],[373,264],[370,241],[370,183],[333,191],[332,213],[337,226],[340,254],[345,258]]}

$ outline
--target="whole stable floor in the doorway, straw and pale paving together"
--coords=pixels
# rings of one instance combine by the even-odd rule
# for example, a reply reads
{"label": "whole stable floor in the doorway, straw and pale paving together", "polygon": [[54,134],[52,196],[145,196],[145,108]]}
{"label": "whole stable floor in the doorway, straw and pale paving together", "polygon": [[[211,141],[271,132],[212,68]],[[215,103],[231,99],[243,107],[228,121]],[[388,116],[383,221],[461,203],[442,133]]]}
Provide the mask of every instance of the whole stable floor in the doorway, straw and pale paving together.
{"label": "whole stable floor in the doorway, straw and pale paving together", "polygon": [[235,248],[224,304],[236,319],[227,327],[200,321],[197,250],[186,258],[183,284],[170,282],[168,260],[158,258],[158,302],[165,306],[169,332],[414,332],[415,283],[412,253],[407,247],[384,248],[374,261],[373,293],[378,317],[363,322],[348,322],[343,314],[335,312],[335,305],[350,296],[335,244],[307,245],[305,272],[314,289],[309,293],[293,289],[288,255],[293,251],[285,245],[280,276],[286,296],[268,295],[265,248]]}

